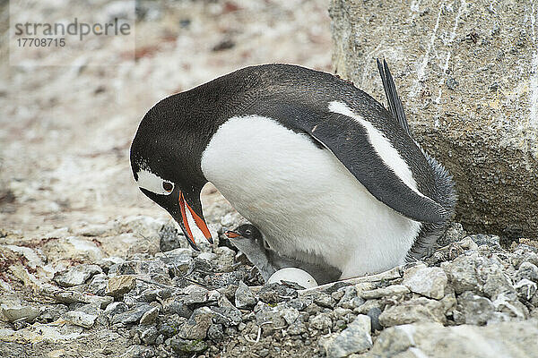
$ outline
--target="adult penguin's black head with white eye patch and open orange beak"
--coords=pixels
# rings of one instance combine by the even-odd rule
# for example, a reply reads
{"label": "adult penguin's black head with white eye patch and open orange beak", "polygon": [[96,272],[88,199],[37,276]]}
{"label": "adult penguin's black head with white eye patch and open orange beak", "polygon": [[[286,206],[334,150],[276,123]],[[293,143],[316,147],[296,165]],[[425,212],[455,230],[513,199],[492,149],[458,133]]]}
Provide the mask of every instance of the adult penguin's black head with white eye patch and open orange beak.
{"label": "adult penguin's black head with white eye patch and open orange beak", "polygon": [[140,190],[174,217],[195,250],[199,231],[213,243],[204,222],[200,168],[209,141],[184,93],[161,100],[144,115],[131,145],[131,168]]}

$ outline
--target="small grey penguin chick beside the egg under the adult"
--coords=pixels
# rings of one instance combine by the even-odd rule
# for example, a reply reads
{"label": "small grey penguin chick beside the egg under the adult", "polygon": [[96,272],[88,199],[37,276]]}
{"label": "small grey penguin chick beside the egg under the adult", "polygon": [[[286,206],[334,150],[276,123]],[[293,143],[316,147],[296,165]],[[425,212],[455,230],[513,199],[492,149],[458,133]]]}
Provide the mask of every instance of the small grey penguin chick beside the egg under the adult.
{"label": "small grey penguin chick beside the egg under the adult", "polygon": [[256,266],[265,282],[282,268],[300,268],[307,271],[320,285],[334,282],[342,275],[342,272],[337,268],[328,265],[322,267],[301,260],[289,259],[271,250],[267,247],[262,233],[256,226],[244,224],[233,231],[227,231],[225,234],[230,242]]}

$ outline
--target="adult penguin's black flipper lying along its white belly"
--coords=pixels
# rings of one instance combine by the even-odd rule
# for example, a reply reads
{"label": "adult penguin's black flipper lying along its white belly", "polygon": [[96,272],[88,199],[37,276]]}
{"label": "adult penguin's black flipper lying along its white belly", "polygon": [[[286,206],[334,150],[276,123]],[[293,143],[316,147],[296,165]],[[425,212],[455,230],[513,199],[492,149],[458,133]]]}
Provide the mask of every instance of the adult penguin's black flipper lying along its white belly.
{"label": "adult penguin's black flipper lying along its white belly", "polygon": [[[269,115],[295,132],[305,132],[329,149],[366,189],[405,217],[424,223],[447,219],[447,211],[437,202],[407,186],[377,154],[369,134],[347,115],[317,112],[290,105],[265,107]],[[268,109],[271,108],[271,109]]]}

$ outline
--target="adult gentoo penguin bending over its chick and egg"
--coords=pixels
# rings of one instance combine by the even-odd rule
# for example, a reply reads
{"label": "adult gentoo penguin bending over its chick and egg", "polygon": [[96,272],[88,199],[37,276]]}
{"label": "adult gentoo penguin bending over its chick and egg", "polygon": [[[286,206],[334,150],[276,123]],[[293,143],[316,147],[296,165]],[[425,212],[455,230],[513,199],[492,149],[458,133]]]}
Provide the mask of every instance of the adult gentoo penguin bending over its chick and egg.
{"label": "adult gentoo penguin bending over its chick and egg", "polygon": [[193,247],[195,236],[211,240],[200,203],[209,181],[272,250],[341,278],[420,258],[447,226],[455,192],[379,69],[391,112],[348,81],[291,64],[164,98],[134,137],[134,179]]}

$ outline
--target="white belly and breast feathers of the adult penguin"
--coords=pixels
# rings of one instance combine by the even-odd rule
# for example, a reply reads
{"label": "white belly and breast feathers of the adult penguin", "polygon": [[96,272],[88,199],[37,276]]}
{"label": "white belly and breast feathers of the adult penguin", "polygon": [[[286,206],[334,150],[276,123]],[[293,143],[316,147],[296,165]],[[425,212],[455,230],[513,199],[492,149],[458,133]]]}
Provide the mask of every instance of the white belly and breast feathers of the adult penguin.
{"label": "white belly and breast feathers of the adult penguin", "polygon": [[[204,150],[202,171],[274,250],[325,260],[342,278],[404,263],[421,229],[374,198],[329,150],[271,118],[222,124]],[[416,190],[414,181],[405,183]]]}

